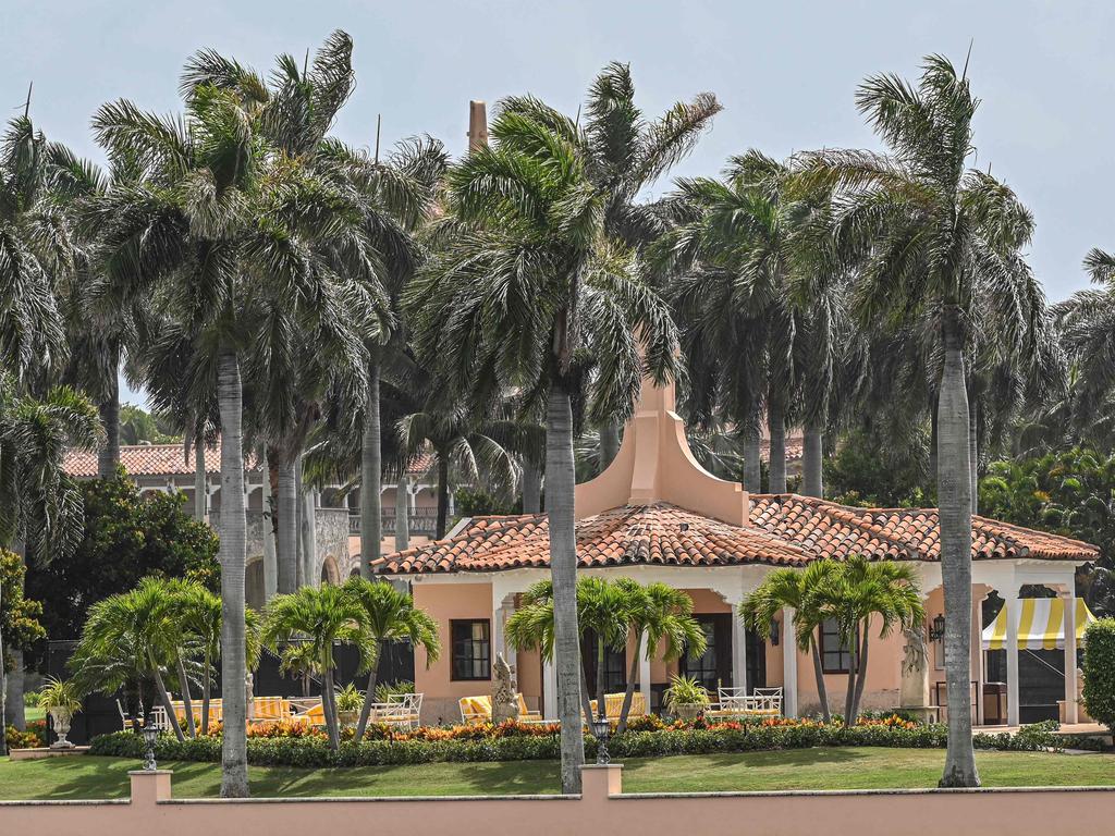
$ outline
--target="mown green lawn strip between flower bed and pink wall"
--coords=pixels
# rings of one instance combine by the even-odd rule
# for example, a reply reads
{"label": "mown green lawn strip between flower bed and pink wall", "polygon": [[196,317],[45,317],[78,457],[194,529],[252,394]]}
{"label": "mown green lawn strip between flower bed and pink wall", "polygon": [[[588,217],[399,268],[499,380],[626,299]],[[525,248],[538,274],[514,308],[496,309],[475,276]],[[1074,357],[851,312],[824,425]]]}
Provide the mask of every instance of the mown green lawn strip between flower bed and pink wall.
{"label": "mown green lawn strip between flower bed and pink wall", "polygon": [[[773,789],[889,789],[932,787],[941,774],[939,749],[798,749],[624,761],[628,793]],[[1115,755],[980,752],[983,786],[1105,786],[1115,784]],[[122,798],[134,760],[78,756],[0,761],[0,799]],[[215,764],[161,764],[174,770],[177,797],[215,796]],[[558,791],[558,765],[424,764],[407,767],[295,769],[251,767],[256,797],[492,795]]]}

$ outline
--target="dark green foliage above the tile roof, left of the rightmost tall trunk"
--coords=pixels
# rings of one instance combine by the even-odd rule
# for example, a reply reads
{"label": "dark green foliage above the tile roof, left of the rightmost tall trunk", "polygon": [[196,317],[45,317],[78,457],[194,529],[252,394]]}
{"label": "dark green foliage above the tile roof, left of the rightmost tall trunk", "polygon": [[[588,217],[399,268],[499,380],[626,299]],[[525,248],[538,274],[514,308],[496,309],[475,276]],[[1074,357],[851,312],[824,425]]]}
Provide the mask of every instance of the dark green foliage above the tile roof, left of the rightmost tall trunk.
{"label": "dark green foliage above the tile roof, left of the rightmost tall trunk", "polygon": [[866,430],[849,432],[825,461],[825,488],[845,505],[900,508],[934,505],[935,479],[929,473],[929,435],[895,446]]}

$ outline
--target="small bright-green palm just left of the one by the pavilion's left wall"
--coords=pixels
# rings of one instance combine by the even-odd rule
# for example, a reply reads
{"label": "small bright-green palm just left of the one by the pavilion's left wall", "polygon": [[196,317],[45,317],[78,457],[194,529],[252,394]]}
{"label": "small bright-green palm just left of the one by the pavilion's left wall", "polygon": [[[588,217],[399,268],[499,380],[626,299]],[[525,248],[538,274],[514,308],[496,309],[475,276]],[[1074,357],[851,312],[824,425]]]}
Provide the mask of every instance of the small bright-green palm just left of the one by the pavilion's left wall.
{"label": "small bright-green palm just left of the one by the pavilion's left wall", "polygon": [[307,658],[312,660],[313,672],[321,677],[321,706],[329,732],[329,746],[340,746],[340,722],[337,715],[337,696],[333,670],[337,662],[333,647],[351,644],[360,653],[361,669],[371,663],[375,654],[372,638],[365,622],[365,611],[341,586],[303,586],[290,595],[277,595],[268,604],[263,622],[263,644],[274,652],[280,644],[292,640],[304,642]]}

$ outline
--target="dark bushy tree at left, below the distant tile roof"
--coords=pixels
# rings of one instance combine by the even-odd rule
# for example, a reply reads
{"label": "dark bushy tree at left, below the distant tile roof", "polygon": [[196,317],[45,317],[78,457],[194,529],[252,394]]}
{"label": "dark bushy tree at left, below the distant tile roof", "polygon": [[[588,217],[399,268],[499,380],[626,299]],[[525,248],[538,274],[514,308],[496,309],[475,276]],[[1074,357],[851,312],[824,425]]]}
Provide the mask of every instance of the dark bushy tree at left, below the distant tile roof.
{"label": "dark bushy tree at left, below the distant tile roof", "polygon": [[43,602],[51,639],[77,639],[89,606],[133,589],[146,575],[187,577],[220,589],[217,537],[188,516],[185,496],[139,496],[123,469],[114,479],[81,484],[85,528],[71,557],[32,566],[28,595]]}

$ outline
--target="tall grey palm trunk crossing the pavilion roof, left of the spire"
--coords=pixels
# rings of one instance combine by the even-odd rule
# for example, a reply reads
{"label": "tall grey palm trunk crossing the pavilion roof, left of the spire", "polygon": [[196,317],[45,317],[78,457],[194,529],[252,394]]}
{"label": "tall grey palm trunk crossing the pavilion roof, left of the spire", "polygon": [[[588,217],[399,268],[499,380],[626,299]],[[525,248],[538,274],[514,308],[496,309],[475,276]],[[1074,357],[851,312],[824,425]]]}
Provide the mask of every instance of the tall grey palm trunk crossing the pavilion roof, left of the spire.
{"label": "tall grey palm trunk crossing the pavilion roof, left of the spire", "polygon": [[546,398],[546,514],[554,595],[554,665],[561,720],[562,791],[581,791],[581,642],[576,624],[576,526],[573,414],[569,392],[553,383]]}

